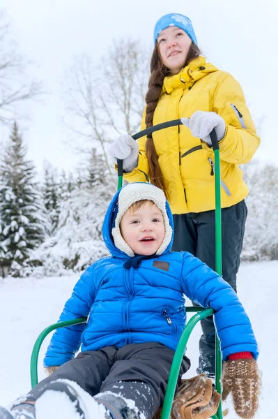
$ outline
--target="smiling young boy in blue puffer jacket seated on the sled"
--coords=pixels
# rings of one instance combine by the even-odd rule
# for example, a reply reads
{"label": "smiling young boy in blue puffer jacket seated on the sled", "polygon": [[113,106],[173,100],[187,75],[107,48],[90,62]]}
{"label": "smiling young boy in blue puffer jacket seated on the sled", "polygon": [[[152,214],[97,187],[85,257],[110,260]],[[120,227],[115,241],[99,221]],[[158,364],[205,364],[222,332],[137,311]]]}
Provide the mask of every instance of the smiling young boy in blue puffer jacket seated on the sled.
{"label": "smiling young boy in blue puffer jacket seated on the sled", "polygon": [[[173,219],[162,190],[148,183],[124,186],[109,205],[102,233],[111,256],[86,269],[60,316],[88,316],[86,325],[56,330],[44,360],[52,375],[10,411],[0,409],[0,418],[153,418],[186,323],[183,294],[215,310],[227,361],[224,392],[235,396],[242,386],[243,364],[252,385],[241,401],[245,413],[249,409],[244,417],[252,418],[258,346],[249,318],[226,281],[190,253],[170,251]],[[184,356],[179,380],[189,367]]]}

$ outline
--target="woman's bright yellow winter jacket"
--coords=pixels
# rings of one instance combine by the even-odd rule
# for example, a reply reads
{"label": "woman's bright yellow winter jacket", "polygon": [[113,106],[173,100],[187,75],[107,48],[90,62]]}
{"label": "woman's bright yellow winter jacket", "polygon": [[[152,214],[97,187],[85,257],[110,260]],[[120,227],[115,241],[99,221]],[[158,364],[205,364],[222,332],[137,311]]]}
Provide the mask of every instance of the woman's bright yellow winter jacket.
{"label": "woman's bright yellow winter jacket", "polygon": [[[225,71],[194,59],[180,73],[164,79],[162,94],[155,109],[153,124],[191,117],[196,110],[217,112],[226,122],[226,133],[219,142],[222,207],[230,207],[248,189],[239,166],[252,159],[260,144],[256,128],[245,104],[240,84]],[[146,128],[145,112],[141,129]],[[189,128],[173,126],[153,133],[158,161],[164,176],[173,214],[215,209],[213,149]],[[139,140],[139,163],[125,174],[128,182],[148,179],[146,137]]]}

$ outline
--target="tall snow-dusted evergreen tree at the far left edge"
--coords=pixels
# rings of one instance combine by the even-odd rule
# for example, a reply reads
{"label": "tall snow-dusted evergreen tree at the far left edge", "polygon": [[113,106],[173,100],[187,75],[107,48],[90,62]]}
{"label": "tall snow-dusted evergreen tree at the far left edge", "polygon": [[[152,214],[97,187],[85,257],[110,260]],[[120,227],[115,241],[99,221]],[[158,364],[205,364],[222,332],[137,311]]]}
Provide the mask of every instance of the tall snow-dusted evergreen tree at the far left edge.
{"label": "tall snow-dusted evergreen tree at the far left edge", "polygon": [[21,264],[43,242],[45,217],[33,163],[16,122],[0,163],[0,265]]}

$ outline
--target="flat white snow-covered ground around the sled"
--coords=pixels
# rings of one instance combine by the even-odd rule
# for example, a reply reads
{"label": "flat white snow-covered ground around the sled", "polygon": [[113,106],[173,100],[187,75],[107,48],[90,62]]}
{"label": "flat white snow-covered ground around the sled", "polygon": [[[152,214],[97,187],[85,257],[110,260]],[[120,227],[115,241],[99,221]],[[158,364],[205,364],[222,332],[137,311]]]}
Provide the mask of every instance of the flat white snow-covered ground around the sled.
{"label": "flat white snow-covered ground around the sled", "polygon": [[[278,261],[242,263],[238,294],[249,314],[261,355],[263,390],[257,419],[278,419],[276,405],[278,365]],[[29,362],[33,343],[40,332],[55,323],[78,276],[45,279],[0,279],[0,404],[6,405],[30,389]],[[196,375],[200,329],[194,329],[187,348]],[[42,359],[49,339],[40,352],[39,378],[44,377]],[[236,418],[230,411],[229,419]]]}

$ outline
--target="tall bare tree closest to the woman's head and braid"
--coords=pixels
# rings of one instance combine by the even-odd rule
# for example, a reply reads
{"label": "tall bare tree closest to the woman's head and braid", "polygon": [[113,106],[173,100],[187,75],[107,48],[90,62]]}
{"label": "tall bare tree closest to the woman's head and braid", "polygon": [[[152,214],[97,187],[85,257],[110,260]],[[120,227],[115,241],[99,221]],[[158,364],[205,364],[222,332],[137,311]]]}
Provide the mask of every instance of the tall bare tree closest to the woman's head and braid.
{"label": "tall bare tree closest to the woman's head and braid", "polygon": [[116,133],[132,135],[139,128],[148,86],[149,61],[146,46],[123,38],[114,43],[104,60],[102,107],[110,116],[107,123]]}

